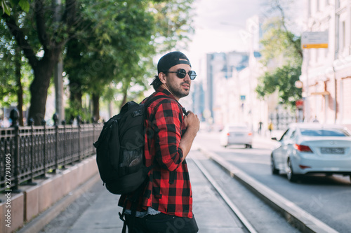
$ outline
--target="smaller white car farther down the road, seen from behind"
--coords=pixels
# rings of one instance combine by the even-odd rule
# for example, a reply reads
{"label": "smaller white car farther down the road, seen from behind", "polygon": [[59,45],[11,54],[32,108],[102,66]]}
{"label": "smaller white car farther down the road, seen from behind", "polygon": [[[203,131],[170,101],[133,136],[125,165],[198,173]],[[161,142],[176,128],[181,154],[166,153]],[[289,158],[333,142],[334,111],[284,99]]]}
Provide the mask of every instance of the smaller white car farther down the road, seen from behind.
{"label": "smaller white car farther down the road, seen from behind", "polygon": [[226,125],[220,133],[220,145],[244,145],[252,148],[252,132],[246,125]]}

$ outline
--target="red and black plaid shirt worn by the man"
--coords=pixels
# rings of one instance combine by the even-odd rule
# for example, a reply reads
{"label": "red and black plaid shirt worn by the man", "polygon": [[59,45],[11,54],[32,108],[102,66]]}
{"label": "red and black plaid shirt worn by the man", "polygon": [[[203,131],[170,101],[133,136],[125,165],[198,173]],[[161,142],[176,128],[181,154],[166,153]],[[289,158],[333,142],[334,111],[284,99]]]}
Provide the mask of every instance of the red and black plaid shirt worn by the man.
{"label": "red and black plaid shirt worn by the man", "polygon": [[[150,97],[164,95],[147,108],[145,134],[146,167],[154,164],[143,197],[140,197],[138,211],[152,209],[179,217],[192,218],[192,188],[187,163],[179,148],[183,132],[182,106],[173,95],[159,87]],[[149,97],[149,98],[150,98]],[[119,199],[119,206],[128,202],[125,195]],[[130,204],[126,204],[128,208]]]}

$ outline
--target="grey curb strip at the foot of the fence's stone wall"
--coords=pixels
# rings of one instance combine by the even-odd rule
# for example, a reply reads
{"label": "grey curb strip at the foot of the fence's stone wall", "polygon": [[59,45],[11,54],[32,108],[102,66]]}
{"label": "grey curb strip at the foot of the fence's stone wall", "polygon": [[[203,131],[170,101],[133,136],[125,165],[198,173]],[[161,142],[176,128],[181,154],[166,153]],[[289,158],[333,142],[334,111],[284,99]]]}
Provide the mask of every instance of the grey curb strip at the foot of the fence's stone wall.
{"label": "grey curb strip at the foot of the fence's stone wall", "polygon": [[78,197],[80,197],[84,192],[88,191],[93,185],[100,181],[100,175],[95,174],[86,183],[80,185],[78,188],[73,190],[66,195],[60,201],[56,202],[49,209],[39,214],[36,218],[31,220],[27,225],[18,230],[18,233],[37,233],[40,232],[48,223],[51,222],[56,216],[60,214],[61,211],[65,210],[69,204],[72,204]]}

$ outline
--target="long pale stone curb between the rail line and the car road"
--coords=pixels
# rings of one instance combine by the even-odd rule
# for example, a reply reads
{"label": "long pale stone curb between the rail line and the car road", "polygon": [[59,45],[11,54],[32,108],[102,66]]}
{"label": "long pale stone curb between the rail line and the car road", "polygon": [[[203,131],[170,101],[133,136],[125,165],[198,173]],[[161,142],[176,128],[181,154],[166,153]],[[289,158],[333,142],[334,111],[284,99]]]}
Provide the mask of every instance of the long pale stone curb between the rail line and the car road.
{"label": "long pale stone curb between the rail line and the car road", "polygon": [[321,220],[314,218],[300,207],[290,202],[285,197],[282,197],[277,192],[274,192],[270,188],[267,188],[262,183],[259,183],[251,176],[244,173],[234,165],[230,164],[216,153],[205,151],[199,148],[201,153],[204,153],[208,158],[216,162],[220,167],[227,171],[230,176],[236,178],[238,181],[246,185],[251,191],[253,191],[258,197],[263,199],[273,209],[277,210],[284,216],[284,218],[296,227],[301,232],[307,233],[337,233],[336,230],[326,225]]}

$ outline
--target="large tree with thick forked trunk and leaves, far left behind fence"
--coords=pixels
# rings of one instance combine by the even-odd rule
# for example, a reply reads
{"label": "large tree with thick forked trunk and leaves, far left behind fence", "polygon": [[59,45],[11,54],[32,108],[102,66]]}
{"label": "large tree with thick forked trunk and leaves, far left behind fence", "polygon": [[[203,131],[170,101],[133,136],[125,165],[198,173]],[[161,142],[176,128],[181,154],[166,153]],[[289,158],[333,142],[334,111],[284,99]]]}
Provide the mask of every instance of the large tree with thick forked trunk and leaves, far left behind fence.
{"label": "large tree with thick forked trunk and leaves, far left behind fence", "polygon": [[[77,29],[77,22],[73,21],[76,4],[75,0],[67,0],[61,9],[52,1],[34,0],[28,14],[14,7],[10,15],[1,16],[34,73],[29,87],[29,118],[34,119],[35,125],[40,125],[44,119],[48,87],[65,40]],[[60,20],[55,13],[60,13]],[[20,19],[20,15],[25,17]]]}

